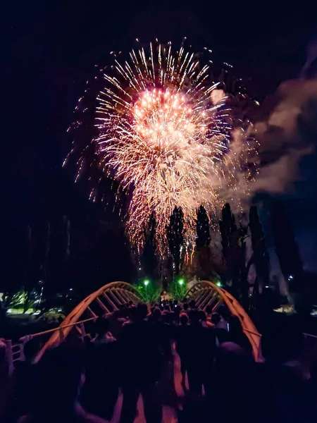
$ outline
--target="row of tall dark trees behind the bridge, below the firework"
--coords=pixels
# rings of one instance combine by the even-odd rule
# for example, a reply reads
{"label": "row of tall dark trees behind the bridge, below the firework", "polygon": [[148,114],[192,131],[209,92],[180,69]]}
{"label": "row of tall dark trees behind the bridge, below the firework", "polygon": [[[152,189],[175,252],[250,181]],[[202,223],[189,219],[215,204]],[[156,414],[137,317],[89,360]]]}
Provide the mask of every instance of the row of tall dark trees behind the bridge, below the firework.
{"label": "row of tall dark trees behind the bridge, below the firework", "polygon": [[[303,270],[292,225],[282,203],[270,205],[266,216],[270,247],[271,251],[275,250],[280,269],[271,269],[258,209],[250,207],[249,214],[240,220],[230,204],[225,204],[216,224],[209,219],[206,209],[199,207],[197,238],[195,245],[189,248],[184,243],[182,211],[175,208],[167,228],[169,257],[161,264],[155,252],[155,222],[152,221],[141,257],[140,276],[150,276],[163,286],[180,275],[187,281],[194,277],[218,281],[247,309],[273,308],[293,302],[308,312],[316,293],[317,278]],[[192,253],[188,254],[190,249]]]}

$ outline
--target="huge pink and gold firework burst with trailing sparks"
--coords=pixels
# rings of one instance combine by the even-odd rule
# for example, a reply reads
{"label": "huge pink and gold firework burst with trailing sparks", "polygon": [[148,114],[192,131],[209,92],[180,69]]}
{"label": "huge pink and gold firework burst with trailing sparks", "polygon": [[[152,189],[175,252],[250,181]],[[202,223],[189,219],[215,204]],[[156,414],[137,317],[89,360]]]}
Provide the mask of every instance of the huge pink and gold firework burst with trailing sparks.
{"label": "huge pink and gold firework burst with trailing sparks", "polygon": [[95,158],[125,192],[125,227],[138,253],[150,219],[163,257],[175,207],[184,216],[185,245],[192,245],[200,204],[216,214],[223,202],[247,195],[253,147],[245,119],[232,113],[234,97],[211,82],[210,71],[183,45],[173,53],[170,44],[150,44],[127,61],[116,58],[104,74]]}

